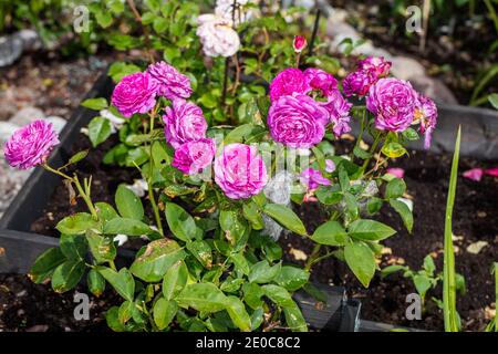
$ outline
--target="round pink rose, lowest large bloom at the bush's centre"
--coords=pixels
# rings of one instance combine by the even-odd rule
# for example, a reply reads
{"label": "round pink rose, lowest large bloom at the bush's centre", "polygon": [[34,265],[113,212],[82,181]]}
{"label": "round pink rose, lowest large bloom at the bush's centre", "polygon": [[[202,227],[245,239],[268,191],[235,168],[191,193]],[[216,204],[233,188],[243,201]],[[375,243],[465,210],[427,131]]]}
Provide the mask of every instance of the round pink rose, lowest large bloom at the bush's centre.
{"label": "round pink rose, lowest large bloom at the bush's centre", "polygon": [[256,146],[229,144],[215,158],[215,181],[228,198],[249,198],[267,184],[267,168]]}

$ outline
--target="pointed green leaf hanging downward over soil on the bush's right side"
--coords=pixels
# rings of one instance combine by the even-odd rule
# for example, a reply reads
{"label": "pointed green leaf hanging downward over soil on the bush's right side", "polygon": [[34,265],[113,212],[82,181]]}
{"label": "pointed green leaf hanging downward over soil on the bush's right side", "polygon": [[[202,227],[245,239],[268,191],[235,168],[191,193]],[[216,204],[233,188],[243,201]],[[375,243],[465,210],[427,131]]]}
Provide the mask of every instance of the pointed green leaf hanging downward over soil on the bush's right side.
{"label": "pointed green leaf hanging downward over soil on the bush's right side", "polygon": [[344,258],[363,287],[369,288],[375,273],[375,256],[364,242],[353,242],[344,247]]}

